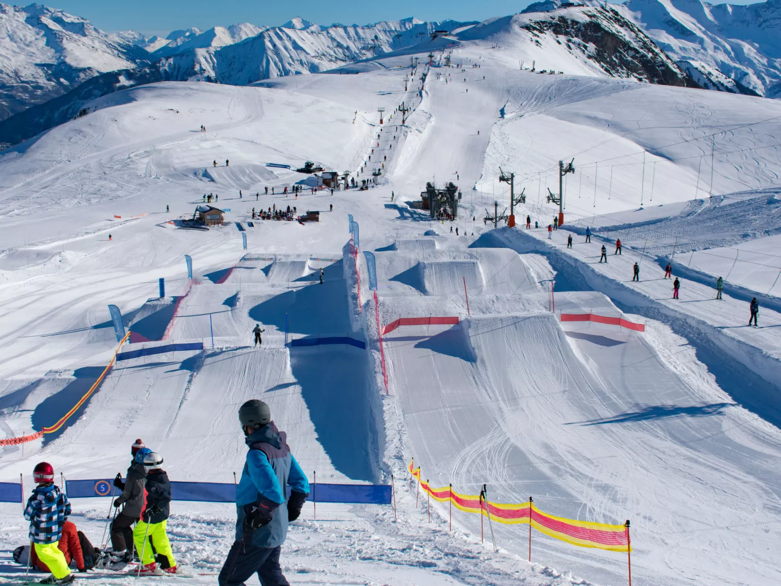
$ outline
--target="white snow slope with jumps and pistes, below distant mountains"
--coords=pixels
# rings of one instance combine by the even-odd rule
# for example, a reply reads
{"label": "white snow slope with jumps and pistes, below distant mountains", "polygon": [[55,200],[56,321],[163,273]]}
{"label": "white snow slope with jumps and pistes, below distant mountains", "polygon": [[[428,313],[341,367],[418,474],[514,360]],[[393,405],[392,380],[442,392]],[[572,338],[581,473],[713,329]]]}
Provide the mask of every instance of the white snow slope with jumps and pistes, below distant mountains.
{"label": "white snow slope with jumps and pistes, below distant mountains", "polygon": [[[393,475],[398,506],[395,518],[391,506],[319,504],[315,518],[307,503],[283,548],[291,584],[626,584],[626,553],[533,531],[529,563],[528,525],[484,520],[481,543],[480,516],[454,508],[450,530],[447,503],[429,510],[412,482],[413,458],[433,487],[476,495],[486,484],[492,502],[531,496],[567,519],[631,520],[635,584],[778,584],[781,284],[771,284],[781,104],[586,70],[517,70],[511,41],[451,48],[462,68],[424,65],[426,49],[407,91],[410,55],[258,87],[130,88],[3,152],[5,438],[51,426],[109,363],[109,304],[148,340],[123,350],[204,349],[116,363],[60,431],[2,447],[0,480],[21,474],[27,498],[41,460],[68,479],[113,477],[142,438],[173,481],[230,483],[244,462],[238,406],[262,398],[310,481],[316,472],[319,482],[390,484]],[[412,107],[403,126],[402,101]],[[572,158],[565,224],[548,239],[558,205],[547,188],[556,192],[558,161]],[[280,193],[305,176],[266,163],[305,161],[358,180],[381,174],[367,191]],[[500,166],[526,188],[514,228],[483,221],[494,202],[500,213],[509,205]],[[427,181],[458,185],[455,221],[412,205]],[[210,193],[230,209],[225,224],[177,227]],[[253,207],[287,205],[319,210],[320,220],[251,218]],[[527,214],[539,228],[526,230]],[[597,263],[602,243],[608,265]],[[733,263],[719,259],[737,250],[728,278]],[[379,316],[363,252],[376,258]],[[676,301],[662,279],[668,257],[682,281]],[[756,329],[745,325],[752,296]],[[645,331],[562,313],[622,316]],[[386,389],[376,323],[429,316],[458,323],[387,332]],[[259,348],[255,323],[265,330]],[[366,349],[290,344],[305,338]],[[101,545],[109,498],[72,504],[71,520]],[[77,580],[215,584],[234,506],[171,509],[186,577]],[[18,584],[24,568],[11,552],[27,541],[27,522],[19,503],[0,513],[0,584]]]}

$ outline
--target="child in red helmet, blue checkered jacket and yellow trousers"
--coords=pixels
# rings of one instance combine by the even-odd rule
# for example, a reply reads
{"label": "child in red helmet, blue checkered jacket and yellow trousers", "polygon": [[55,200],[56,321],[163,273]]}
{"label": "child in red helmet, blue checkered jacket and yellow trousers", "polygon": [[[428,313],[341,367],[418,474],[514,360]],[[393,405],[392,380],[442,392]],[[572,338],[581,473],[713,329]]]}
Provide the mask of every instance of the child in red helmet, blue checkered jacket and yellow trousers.
{"label": "child in red helmet, blue checkered jacket and yellow trousers", "polygon": [[57,547],[62,525],[70,516],[70,502],[54,484],[54,468],[50,463],[37,464],[33,480],[37,486],[27,499],[24,518],[30,521],[30,546],[52,572],[41,584],[70,584],[74,576]]}

